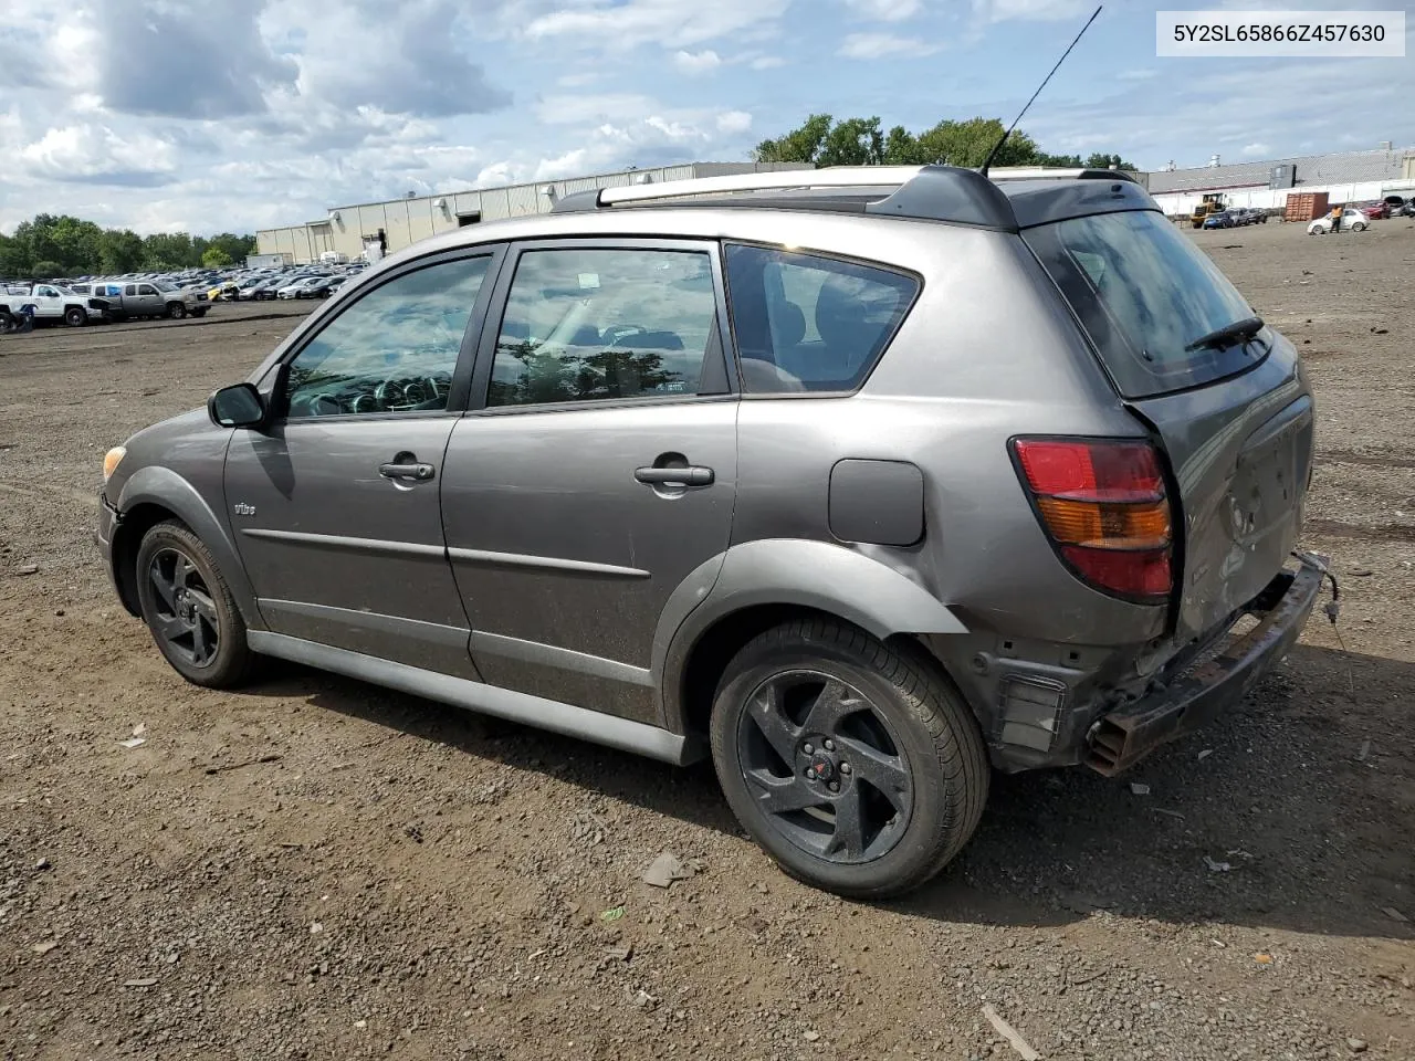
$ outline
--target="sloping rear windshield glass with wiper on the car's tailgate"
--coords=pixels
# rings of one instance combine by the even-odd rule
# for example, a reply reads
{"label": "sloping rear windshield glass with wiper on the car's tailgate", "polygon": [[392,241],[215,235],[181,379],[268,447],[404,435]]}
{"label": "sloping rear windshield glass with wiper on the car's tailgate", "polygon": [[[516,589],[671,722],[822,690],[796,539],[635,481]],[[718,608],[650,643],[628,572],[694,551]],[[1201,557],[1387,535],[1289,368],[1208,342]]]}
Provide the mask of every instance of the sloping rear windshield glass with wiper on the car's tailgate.
{"label": "sloping rear windshield glass with wiper on the car's tailgate", "polygon": [[1196,340],[1254,315],[1248,301],[1155,211],[1071,218],[1023,232],[1125,398],[1200,386],[1248,368],[1269,337]]}

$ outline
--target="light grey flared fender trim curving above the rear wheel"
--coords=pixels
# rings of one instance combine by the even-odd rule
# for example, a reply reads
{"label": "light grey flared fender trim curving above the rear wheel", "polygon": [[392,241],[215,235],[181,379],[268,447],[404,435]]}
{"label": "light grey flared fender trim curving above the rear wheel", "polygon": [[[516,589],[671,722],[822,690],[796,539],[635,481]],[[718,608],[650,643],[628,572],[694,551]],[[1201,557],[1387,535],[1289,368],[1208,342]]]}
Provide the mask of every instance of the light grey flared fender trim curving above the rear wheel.
{"label": "light grey flared fender trim curving above the rear wheel", "polygon": [[737,545],[689,574],[659,617],[649,671],[665,729],[685,730],[683,671],[699,638],[722,618],[758,604],[831,613],[882,641],[894,634],[968,632],[928,590],[866,553],[799,538]]}

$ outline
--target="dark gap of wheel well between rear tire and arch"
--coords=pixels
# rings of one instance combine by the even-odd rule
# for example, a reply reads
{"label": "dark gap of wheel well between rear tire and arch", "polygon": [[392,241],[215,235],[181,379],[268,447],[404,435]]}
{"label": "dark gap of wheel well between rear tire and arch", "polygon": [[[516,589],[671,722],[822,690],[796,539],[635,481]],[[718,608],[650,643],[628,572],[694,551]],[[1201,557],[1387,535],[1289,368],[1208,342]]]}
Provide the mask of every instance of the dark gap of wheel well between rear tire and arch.
{"label": "dark gap of wheel well between rear tire and arch", "polygon": [[[824,620],[836,622],[850,630],[860,630],[865,637],[873,638],[869,631],[849,620],[822,608],[809,608],[801,604],[756,604],[740,611],[723,615],[709,627],[693,645],[688,661],[683,665],[682,679],[678,688],[676,719],[669,705],[669,727],[679,729],[685,736],[705,736],[712,719],[712,705],[717,695],[717,683],[732,658],[740,652],[747,642],[773,627],[791,622],[792,620]],[[940,680],[966,703],[961,688],[948,673],[942,661],[928,649],[927,644],[914,634],[891,634],[884,638],[884,645],[899,655],[907,655],[918,665],[928,668]],[[675,724],[676,723],[676,724]]]}

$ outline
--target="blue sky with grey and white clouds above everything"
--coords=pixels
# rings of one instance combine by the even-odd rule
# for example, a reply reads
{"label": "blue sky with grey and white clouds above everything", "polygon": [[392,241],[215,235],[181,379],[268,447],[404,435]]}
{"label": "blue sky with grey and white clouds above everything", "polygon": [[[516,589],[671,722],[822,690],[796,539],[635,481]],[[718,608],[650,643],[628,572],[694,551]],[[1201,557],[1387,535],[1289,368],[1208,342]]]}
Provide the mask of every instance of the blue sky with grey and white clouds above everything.
{"label": "blue sky with grey and white clouds above everything", "polygon": [[[0,231],[38,211],[253,231],[408,191],[741,160],[818,110],[1010,117],[1092,6],[4,0]],[[1112,0],[1023,129],[1143,168],[1415,143],[1415,50],[1156,59],[1155,10],[1179,6]]]}

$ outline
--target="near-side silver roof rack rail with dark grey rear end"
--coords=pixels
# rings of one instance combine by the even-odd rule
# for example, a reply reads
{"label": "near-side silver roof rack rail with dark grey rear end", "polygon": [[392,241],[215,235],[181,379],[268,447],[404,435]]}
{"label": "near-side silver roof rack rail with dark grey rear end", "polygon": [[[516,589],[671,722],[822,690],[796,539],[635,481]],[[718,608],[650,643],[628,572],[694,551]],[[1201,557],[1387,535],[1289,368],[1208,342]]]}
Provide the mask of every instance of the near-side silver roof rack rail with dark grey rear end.
{"label": "near-side silver roof rack rail with dark grey rear end", "polygon": [[[702,177],[662,184],[635,184],[566,195],[552,214],[594,211],[613,205],[634,205],[689,199],[685,205],[733,205],[733,192],[887,190],[882,198],[862,204],[866,214],[883,214],[920,221],[949,221],[1015,231],[1017,219],[1007,197],[976,170],[954,166],[838,166],[824,170],[747,173]],[[716,198],[713,198],[716,197]],[[778,201],[775,205],[785,205]]]}

